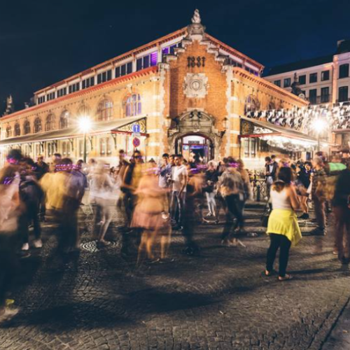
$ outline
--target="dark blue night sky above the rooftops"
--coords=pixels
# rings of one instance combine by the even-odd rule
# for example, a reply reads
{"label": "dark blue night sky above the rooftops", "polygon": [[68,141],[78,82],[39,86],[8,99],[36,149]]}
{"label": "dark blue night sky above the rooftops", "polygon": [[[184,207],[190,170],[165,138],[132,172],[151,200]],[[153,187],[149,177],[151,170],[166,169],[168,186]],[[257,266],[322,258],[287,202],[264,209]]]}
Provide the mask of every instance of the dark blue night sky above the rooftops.
{"label": "dark blue night sky above the rooftops", "polygon": [[265,66],[328,55],[350,38],[349,0],[0,0],[0,115],[34,91],[190,24]]}

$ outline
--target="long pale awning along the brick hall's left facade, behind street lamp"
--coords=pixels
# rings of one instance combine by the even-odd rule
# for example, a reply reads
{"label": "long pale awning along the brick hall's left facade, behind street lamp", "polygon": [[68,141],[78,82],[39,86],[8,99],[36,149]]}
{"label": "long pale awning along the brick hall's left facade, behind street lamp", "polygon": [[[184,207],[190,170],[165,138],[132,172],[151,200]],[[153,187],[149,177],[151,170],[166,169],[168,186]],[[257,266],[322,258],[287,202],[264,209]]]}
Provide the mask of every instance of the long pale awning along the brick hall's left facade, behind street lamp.
{"label": "long pale awning along the brick hall's left facade, behind street lamp", "polygon": [[[132,134],[132,125],[139,122],[141,128],[139,134],[146,135],[146,117],[128,117],[107,122],[92,123],[92,130],[89,135],[96,134]],[[10,146],[14,144],[31,144],[33,142],[53,141],[61,139],[72,139],[83,137],[78,126],[67,127],[66,129],[54,130],[50,132],[39,132],[37,134],[28,134],[20,137],[11,137],[0,141],[0,146]]]}

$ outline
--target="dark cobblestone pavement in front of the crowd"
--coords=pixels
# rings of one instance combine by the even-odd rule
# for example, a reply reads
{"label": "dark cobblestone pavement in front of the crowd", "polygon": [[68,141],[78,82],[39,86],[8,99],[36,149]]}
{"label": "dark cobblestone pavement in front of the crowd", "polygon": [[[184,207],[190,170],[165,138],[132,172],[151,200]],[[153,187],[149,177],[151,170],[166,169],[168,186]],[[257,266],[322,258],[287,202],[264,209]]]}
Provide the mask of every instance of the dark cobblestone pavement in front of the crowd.
{"label": "dark cobblestone pavement in front of the crowd", "polygon": [[0,349],[321,349],[349,301],[349,268],[328,233],[293,249],[292,281],[262,276],[269,241],[260,213],[247,211],[247,230],[260,234],[243,237],[246,248],[221,246],[222,226],[203,225],[200,255],[184,255],[174,232],[169,260],[140,267],[120,254],[117,216],[113,245],[102,250],[87,216],[80,256],[62,268],[48,221],[43,249],[22,259],[12,295],[21,312],[1,325]]}

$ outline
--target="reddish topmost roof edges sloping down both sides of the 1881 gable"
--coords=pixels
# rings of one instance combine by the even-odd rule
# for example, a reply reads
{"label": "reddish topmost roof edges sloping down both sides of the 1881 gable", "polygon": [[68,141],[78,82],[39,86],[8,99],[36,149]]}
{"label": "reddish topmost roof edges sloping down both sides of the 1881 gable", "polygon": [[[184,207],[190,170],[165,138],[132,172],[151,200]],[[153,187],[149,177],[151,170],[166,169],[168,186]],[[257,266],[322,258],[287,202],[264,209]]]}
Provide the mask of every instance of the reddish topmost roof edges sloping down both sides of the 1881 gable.
{"label": "reddish topmost roof edges sloping down both sides of the 1881 gable", "polygon": [[[182,29],[179,29],[177,31],[172,32],[171,34],[167,34],[166,36],[162,36],[161,38],[158,38],[157,40],[151,41],[151,43],[147,43],[145,45],[139,46],[139,48],[135,48],[134,50],[130,50],[128,52],[123,53],[122,55],[119,55],[117,57],[113,57],[111,59],[108,59],[107,61],[104,61],[100,64],[97,64],[95,66],[92,66],[89,69],[85,69],[85,71],[81,71],[79,73],[74,74],[73,76],[70,76],[69,78],[60,80],[57,83],[54,83],[52,85],[49,85],[47,87],[43,87],[40,90],[37,90],[36,92],[34,92],[35,94],[40,94],[41,92],[45,92],[47,90],[52,89],[53,87],[57,87],[59,85],[62,84],[66,84],[69,83],[71,80],[74,80],[76,78],[80,78],[81,76],[85,76],[89,73],[93,73],[94,71],[97,71],[97,69],[102,69],[104,68],[104,66],[109,66],[110,64],[114,64],[118,61],[122,61],[123,59],[126,59],[127,57],[133,57],[134,55],[137,55],[139,52],[143,52],[146,50],[149,50],[151,48],[157,47],[158,45],[170,41],[174,38],[178,38],[179,36],[185,35],[187,34],[187,27],[184,27]],[[235,50],[234,48],[231,48],[229,45],[226,45],[225,43],[223,43],[222,41],[214,38],[214,36],[211,36],[209,34],[205,34],[205,36],[207,38],[209,38],[209,40],[213,41],[214,43],[216,43],[216,45],[218,45],[220,48],[222,48],[223,50],[227,50],[228,52],[232,52],[232,55],[236,55],[237,57],[246,60],[246,62],[253,64],[254,66],[257,66],[257,68],[261,71],[262,69],[264,69],[264,66],[262,64],[260,64],[259,62],[256,62],[254,59],[251,59],[250,57],[244,55],[243,53]]]}

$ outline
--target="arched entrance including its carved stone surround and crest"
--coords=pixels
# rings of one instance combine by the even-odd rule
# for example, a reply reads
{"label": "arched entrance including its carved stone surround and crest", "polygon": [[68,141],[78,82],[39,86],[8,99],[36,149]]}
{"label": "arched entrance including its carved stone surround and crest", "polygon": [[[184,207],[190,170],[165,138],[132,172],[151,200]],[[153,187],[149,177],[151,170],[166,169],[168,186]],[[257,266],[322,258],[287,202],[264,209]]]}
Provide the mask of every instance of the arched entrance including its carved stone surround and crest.
{"label": "arched entrance including its carved stone surround and crest", "polygon": [[218,158],[225,132],[216,130],[215,118],[204,111],[188,111],[172,119],[168,130],[169,146],[174,153],[189,158],[191,152],[204,161]]}

